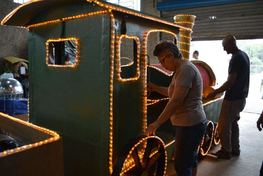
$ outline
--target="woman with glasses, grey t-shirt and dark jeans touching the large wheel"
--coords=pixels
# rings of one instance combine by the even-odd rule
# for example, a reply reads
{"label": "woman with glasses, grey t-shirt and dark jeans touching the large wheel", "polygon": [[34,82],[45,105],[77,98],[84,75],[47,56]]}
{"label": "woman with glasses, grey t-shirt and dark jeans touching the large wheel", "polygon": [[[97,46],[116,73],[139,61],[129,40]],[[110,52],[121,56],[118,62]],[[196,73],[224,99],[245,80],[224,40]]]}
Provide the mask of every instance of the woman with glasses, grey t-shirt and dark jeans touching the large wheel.
{"label": "woman with glasses, grey t-shirt and dark jeans touching the large wheel", "polygon": [[[203,82],[193,63],[183,60],[173,41],[160,41],[154,49],[161,65],[174,71],[169,87],[150,83],[148,88],[169,96],[170,100],[159,118],[148,125],[146,135],[155,134],[162,123],[171,120],[175,126],[174,168],[177,175],[196,175],[197,149],[206,131],[206,115],[202,107]],[[149,89],[148,89],[149,90]]]}

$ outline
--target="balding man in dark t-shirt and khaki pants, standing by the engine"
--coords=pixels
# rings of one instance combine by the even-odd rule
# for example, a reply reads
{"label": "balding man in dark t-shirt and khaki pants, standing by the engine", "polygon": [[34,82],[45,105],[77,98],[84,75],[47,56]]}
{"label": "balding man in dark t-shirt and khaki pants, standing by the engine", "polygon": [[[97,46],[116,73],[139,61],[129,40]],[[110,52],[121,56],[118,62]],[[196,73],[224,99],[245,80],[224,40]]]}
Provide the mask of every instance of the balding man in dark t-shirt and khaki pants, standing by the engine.
{"label": "balding man in dark t-shirt and khaki pants, standing by the engine", "polygon": [[240,119],[239,113],[245,107],[249,91],[250,62],[247,54],[236,46],[234,36],[225,36],[222,46],[227,54],[232,54],[228,67],[228,78],[221,87],[208,94],[207,99],[211,100],[217,94],[226,91],[218,120],[221,149],[211,154],[219,158],[230,159],[231,154],[240,155],[237,121]]}

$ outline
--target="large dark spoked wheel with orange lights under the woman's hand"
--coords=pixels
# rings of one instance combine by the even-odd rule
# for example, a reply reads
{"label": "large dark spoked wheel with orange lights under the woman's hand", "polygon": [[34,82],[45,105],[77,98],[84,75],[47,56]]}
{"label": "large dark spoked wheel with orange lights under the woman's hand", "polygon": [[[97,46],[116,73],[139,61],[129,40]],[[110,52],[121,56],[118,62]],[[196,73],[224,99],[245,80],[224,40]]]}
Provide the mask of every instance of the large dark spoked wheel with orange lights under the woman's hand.
{"label": "large dark spoked wheel with orange lights under the woman's hand", "polygon": [[[152,149],[156,148],[155,151]],[[157,136],[138,135],[128,141],[113,167],[112,176],[119,175],[165,175],[166,150]]]}

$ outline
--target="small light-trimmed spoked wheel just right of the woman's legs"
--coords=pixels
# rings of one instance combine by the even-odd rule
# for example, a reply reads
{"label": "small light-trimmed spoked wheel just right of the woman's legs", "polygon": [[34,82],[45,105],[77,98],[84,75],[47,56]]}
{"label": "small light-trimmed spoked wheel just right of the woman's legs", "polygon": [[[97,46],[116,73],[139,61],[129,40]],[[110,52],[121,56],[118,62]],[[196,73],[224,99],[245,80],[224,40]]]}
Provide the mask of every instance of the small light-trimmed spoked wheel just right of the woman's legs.
{"label": "small light-trimmed spoked wheel just right of the woman's legs", "polygon": [[201,155],[206,155],[210,150],[211,144],[213,142],[213,136],[214,136],[214,124],[212,121],[208,121],[206,127],[206,133],[200,144]]}

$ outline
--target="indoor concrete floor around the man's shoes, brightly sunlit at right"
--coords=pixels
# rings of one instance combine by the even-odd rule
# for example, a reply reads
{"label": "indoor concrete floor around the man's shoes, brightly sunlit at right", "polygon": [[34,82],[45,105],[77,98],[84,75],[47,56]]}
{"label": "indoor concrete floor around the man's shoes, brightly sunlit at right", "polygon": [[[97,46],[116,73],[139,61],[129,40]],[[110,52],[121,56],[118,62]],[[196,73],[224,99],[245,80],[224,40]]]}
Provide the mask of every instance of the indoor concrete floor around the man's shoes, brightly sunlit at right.
{"label": "indoor concrete floor around the man's shoes, brightly sunlit at right", "polygon": [[[207,157],[199,159],[198,176],[213,175],[259,175],[263,159],[263,131],[256,128],[259,114],[240,113],[240,156],[232,155],[232,158],[213,160]],[[210,149],[209,153],[219,150],[221,145]],[[167,175],[176,175],[173,163],[168,164]]]}

